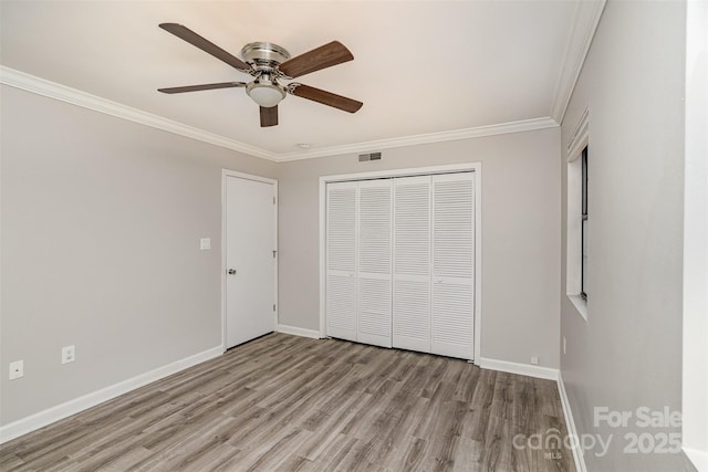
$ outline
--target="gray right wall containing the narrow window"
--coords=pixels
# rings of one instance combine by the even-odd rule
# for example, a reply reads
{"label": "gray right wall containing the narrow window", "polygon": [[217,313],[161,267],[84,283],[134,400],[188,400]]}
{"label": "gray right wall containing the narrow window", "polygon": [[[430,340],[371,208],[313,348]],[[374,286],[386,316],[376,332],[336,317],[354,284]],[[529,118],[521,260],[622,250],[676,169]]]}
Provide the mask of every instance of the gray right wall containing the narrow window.
{"label": "gray right wall containing the narrow window", "polygon": [[[607,455],[585,454],[590,471],[685,466],[681,454],[623,453],[625,433],[680,432],[637,428],[636,409],[681,408],[684,41],[683,2],[607,2],[562,125],[565,149],[590,107],[587,321],[561,296],[577,432],[614,434]],[[595,407],[631,411],[628,428],[595,427]]]}

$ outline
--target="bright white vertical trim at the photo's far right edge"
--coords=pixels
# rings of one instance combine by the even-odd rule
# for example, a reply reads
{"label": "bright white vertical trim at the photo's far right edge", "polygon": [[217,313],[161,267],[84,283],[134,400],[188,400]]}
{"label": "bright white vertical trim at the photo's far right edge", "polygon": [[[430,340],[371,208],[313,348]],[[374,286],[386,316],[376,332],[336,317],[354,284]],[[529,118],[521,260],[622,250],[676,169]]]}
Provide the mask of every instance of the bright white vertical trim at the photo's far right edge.
{"label": "bright white vertical trim at the photo's far right edge", "polygon": [[708,3],[686,2],[681,438],[708,471]]}

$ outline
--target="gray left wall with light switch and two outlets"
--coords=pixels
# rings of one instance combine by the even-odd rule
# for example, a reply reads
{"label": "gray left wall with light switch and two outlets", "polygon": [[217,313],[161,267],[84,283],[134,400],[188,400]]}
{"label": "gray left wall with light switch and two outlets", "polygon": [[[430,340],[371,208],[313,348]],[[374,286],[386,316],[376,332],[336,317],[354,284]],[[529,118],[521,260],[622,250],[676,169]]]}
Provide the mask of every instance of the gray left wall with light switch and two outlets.
{"label": "gray left wall with light switch and two outlets", "polygon": [[275,165],[12,87],[1,118],[0,423],[219,346],[221,169]]}

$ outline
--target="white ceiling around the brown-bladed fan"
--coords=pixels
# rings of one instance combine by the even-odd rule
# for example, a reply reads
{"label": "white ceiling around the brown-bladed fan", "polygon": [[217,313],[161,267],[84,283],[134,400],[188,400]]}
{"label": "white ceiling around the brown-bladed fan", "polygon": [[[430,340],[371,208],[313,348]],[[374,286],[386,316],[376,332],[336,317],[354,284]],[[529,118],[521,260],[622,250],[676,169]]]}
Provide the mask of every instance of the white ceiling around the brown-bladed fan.
{"label": "white ceiling around the brown-bladed fan", "polygon": [[[303,153],[300,143],[310,144],[306,153],[323,154],[558,120],[554,102],[572,86],[563,82],[574,78],[564,69],[579,62],[569,55],[584,54],[569,48],[585,21],[581,3],[2,0],[0,61],[6,71],[189,125],[278,160]],[[259,108],[243,88],[160,94],[158,87],[249,81],[159,29],[163,22],[185,24],[237,56],[253,41],[278,43],[294,56],[339,40],[354,61],[298,81],[364,106],[352,115],[288,96],[279,126],[261,128]]]}

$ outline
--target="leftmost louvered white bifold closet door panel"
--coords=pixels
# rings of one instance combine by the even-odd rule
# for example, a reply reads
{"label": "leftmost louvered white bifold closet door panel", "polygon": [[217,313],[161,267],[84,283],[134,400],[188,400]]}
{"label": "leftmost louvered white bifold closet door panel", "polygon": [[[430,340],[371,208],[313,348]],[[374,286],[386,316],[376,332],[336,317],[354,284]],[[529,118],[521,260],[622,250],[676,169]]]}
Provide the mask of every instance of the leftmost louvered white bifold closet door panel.
{"label": "leftmost louvered white bifold closet door panel", "polygon": [[327,183],[326,334],[356,340],[356,182]]}

